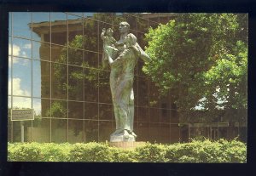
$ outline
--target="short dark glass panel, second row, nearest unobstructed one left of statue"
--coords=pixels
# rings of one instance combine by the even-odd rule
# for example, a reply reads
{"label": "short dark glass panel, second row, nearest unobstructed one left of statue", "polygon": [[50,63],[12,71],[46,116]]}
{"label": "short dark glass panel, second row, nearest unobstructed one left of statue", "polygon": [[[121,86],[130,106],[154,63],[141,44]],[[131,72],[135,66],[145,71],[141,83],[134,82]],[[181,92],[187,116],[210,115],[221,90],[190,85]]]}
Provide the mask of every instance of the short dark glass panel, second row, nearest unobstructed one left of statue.
{"label": "short dark glass panel, second row, nearest unobstructed one left of statue", "polygon": [[89,51],[84,51],[84,63],[83,63],[83,65],[85,67],[98,68],[98,65],[99,65],[98,54],[93,53],[93,52],[89,52]]}

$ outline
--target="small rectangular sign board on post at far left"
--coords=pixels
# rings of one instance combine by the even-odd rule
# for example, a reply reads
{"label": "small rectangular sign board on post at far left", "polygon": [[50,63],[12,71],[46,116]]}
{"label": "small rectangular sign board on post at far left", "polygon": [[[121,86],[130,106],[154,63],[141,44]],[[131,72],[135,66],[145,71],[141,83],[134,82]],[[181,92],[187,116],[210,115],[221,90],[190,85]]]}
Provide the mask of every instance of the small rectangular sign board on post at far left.
{"label": "small rectangular sign board on post at far left", "polygon": [[33,109],[20,109],[11,111],[11,121],[28,121],[34,120]]}

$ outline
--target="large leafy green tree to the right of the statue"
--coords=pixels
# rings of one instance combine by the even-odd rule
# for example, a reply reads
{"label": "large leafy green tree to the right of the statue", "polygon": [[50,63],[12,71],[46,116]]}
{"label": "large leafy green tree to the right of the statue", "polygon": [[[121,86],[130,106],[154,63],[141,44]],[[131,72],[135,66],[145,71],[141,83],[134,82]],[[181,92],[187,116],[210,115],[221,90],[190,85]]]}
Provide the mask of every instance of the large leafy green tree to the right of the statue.
{"label": "large leafy green tree to the right of the statue", "polygon": [[179,14],[146,40],[143,71],[179,111],[247,109],[247,14]]}

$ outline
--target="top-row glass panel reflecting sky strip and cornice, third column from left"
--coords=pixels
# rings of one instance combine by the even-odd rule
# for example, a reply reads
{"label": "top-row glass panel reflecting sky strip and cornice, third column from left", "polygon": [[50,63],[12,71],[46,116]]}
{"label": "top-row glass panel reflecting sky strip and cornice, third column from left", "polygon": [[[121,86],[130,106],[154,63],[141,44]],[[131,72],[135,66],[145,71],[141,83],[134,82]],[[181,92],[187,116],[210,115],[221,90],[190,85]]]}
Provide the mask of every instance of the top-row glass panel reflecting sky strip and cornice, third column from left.
{"label": "top-row glass panel reflecting sky strip and cornice, third column from left", "polygon": [[51,13],[51,43],[65,45],[67,43],[67,14]]}

